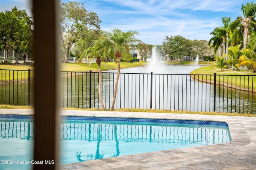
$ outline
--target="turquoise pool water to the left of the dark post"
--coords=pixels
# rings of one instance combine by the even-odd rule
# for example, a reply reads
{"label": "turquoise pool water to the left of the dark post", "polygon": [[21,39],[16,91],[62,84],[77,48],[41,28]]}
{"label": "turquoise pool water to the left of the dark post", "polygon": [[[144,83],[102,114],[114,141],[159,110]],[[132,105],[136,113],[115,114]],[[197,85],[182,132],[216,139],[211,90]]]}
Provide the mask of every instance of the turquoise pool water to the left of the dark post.
{"label": "turquoise pool water to the left of the dark post", "polygon": [[16,161],[33,159],[34,123],[0,120],[0,160],[14,160],[14,164],[0,164],[0,169],[29,170],[32,164],[16,164]]}

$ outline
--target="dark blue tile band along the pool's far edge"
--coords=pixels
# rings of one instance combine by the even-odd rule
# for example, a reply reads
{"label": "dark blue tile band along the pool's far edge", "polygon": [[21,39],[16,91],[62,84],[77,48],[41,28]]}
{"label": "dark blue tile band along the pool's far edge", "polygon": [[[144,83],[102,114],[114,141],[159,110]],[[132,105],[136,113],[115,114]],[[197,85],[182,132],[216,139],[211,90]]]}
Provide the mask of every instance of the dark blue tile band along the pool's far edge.
{"label": "dark blue tile band along the pool's far edge", "polygon": [[[34,115],[0,115],[0,119],[26,119],[33,120]],[[147,118],[124,118],[124,117],[86,117],[86,116],[61,116],[62,121],[90,121],[102,123],[132,123],[132,124],[161,124],[161,125],[210,125],[228,127],[226,122],[184,120],[184,119],[147,119]]]}

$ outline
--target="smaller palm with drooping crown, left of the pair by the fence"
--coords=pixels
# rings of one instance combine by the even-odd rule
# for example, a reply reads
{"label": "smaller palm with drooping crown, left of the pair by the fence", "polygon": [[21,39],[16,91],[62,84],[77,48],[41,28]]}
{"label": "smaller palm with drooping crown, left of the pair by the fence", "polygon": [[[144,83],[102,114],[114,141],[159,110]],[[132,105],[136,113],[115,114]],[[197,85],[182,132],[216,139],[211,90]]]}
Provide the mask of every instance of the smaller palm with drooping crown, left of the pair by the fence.
{"label": "smaller palm with drooping crown, left of the pair by the fence", "polygon": [[88,49],[82,51],[80,57],[78,59],[78,64],[81,63],[82,59],[86,59],[91,62],[93,59],[96,59],[96,63],[98,64],[98,71],[99,71],[99,84],[98,84],[98,92],[99,92],[99,99],[101,108],[104,109],[104,104],[102,100],[102,91],[101,91],[101,84],[102,84],[102,74],[100,63],[102,60],[105,59],[104,50],[99,49],[97,46],[89,47]]}

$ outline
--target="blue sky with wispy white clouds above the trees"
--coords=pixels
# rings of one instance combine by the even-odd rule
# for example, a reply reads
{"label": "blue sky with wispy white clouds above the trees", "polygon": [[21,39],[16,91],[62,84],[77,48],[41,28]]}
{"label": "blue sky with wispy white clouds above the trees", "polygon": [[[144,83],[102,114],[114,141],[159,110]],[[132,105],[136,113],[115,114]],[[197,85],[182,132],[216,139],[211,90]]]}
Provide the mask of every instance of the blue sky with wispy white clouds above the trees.
{"label": "blue sky with wispy white clouds above the trees", "polygon": [[[0,11],[27,10],[30,0],[0,0]],[[215,27],[222,27],[222,18],[231,21],[242,16],[242,4],[248,0],[62,0],[84,3],[86,10],[95,12],[104,31],[134,30],[146,44],[161,45],[166,36],[180,35],[190,40],[207,40]]]}

